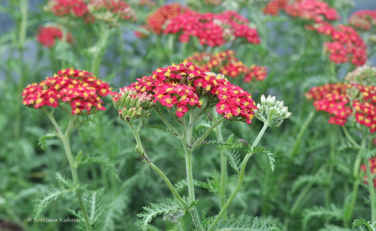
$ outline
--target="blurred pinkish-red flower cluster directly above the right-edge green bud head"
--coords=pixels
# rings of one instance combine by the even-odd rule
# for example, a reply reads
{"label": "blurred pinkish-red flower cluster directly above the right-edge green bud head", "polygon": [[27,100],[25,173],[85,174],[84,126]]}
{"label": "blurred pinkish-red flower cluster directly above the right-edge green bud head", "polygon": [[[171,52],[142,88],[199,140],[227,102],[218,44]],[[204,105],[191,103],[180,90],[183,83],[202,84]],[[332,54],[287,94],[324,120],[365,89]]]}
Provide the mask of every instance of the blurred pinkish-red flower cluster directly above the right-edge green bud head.
{"label": "blurred pinkish-red flower cluster directly above the right-edge green bud head", "polygon": [[347,63],[362,66],[367,61],[367,45],[352,28],[342,24],[337,27],[329,23],[314,25],[318,33],[331,36],[332,42],[324,42],[324,49],[329,52],[329,59],[335,63]]}

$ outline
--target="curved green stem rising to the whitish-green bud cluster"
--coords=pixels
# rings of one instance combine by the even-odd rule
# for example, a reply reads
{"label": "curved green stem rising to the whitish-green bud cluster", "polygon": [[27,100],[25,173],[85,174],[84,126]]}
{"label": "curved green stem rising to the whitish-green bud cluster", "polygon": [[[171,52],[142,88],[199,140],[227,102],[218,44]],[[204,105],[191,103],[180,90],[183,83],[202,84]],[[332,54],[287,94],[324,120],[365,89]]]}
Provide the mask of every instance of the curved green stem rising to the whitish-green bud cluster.
{"label": "curved green stem rising to the whitish-green bud cluster", "polygon": [[[250,150],[252,150],[257,144],[258,142],[260,141],[262,135],[264,135],[265,133],[265,130],[266,128],[269,126],[268,123],[264,123],[264,127],[262,127],[261,131],[259,132],[258,136],[256,137],[255,139],[255,142],[253,142]],[[243,162],[241,163],[241,167],[240,167],[240,174],[239,174],[239,179],[238,179],[238,184],[235,188],[235,190],[232,192],[232,194],[230,195],[229,199],[226,201],[226,203],[224,204],[223,208],[221,209],[221,211],[218,213],[218,216],[214,219],[214,221],[212,222],[212,224],[210,225],[210,227],[208,228],[207,231],[211,231],[213,230],[213,228],[215,227],[215,225],[218,223],[218,221],[220,219],[222,219],[224,213],[226,212],[226,210],[228,209],[228,207],[230,206],[230,203],[233,201],[233,199],[235,198],[235,196],[238,194],[239,190],[240,190],[240,187],[241,185],[243,185],[243,180],[244,180],[244,175],[245,175],[245,169],[246,169],[246,165],[247,165],[247,162],[249,160],[249,158],[252,156],[252,152],[251,153],[248,153],[244,159],[243,159]]]}

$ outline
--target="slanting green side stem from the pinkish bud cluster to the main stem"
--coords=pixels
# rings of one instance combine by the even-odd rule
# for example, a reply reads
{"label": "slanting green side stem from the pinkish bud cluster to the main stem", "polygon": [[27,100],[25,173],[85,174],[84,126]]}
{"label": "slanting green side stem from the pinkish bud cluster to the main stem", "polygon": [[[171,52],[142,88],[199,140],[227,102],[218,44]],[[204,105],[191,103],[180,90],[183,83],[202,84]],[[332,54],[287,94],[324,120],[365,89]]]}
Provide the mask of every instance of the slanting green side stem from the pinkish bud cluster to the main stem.
{"label": "slanting green side stem from the pinkish bud cluster to the main stem", "polygon": [[[140,124],[143,123],[143,121],[140,121]],[[174,186],[171,184],[170,180],[167,178],[167,176],[155,165],[153,162],[147,157],[146,152],[143,148],[143,145],[141,143],[141,139],[139,136],[139,131],[136,131],[136,129],[133,127],[132,123],[128,123],[130,130],[133,133],[133,136],[135,136],[136,139],[136,151],[137,153],[147,162],[147,164],[156,172],[159,176],[161,176],[162,180],[166,183],[167,187],[170,189],[172,194],[175,196],[175,198],[182,204],[186,204],[182,197],[180,197],[179,193],[176,191]]]}

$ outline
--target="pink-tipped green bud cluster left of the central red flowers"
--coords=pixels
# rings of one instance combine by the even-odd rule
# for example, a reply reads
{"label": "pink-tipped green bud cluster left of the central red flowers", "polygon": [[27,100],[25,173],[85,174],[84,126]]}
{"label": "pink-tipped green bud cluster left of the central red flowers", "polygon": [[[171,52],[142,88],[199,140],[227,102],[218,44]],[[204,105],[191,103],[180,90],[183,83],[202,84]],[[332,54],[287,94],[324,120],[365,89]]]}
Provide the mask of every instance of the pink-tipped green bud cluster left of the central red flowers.
{"label": "pink-tipped green bud cluster left of the central red flowers", "polygon": [[120,88],[120,92],[110,92],[112,103],[119,111],[120,119],[132,122],[139,118],[148,118],[150,108],[155,104],[152,94],[138,92],[135,87]]}

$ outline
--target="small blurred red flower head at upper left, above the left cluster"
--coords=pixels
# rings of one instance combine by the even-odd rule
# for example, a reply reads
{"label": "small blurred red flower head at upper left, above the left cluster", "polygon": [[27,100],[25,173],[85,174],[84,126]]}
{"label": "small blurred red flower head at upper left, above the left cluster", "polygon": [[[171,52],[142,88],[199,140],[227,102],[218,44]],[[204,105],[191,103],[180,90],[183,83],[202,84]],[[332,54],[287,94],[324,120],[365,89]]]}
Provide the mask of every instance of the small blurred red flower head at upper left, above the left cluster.
{"label": "small blurred red flower head at upper left, above the left cluster", "polygon": [[[42,44],[42,46],[51,48],[55,46],[55,40],[59,39],[62,40],[63,32],[60,30],[59,27],[47,26],[47,27],[40,27],[38,30],[38,34],[36,36],[36,40]],[[72,43],[72,35],[70,32],[67,33],[66,42]]]}

